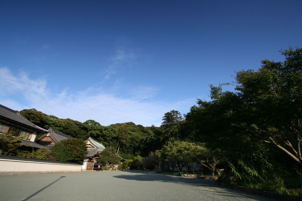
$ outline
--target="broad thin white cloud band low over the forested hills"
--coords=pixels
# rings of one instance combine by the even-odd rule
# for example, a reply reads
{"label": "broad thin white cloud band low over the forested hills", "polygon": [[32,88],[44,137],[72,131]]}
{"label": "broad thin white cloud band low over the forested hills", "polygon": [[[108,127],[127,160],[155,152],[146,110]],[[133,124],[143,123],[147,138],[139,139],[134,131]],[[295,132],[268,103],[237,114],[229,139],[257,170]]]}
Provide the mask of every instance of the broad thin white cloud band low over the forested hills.
{"label": "broad thin white cloud band low over the forested hills", "polygon": [[160,126],[164,113],[180,106],[189,108],[192,104],[192,100],[176,103],[146,101],[146,94],[142,97],[137,94],[143,94],[143,91],[156,94],[156,89],[142,86],[134,90],[130,98],[117,97],[97,88],[77,92],[66,88],[54,94],[47,88],[44,78],[30,79],[24,72],[14,75],[8,68],[0,68],[0,74],[5,77],[5,80],[0,80],[0,104],[19,111],[36,108],[48,115],[80,122],[92,119],[104,126],[130,121],[143,126]]}

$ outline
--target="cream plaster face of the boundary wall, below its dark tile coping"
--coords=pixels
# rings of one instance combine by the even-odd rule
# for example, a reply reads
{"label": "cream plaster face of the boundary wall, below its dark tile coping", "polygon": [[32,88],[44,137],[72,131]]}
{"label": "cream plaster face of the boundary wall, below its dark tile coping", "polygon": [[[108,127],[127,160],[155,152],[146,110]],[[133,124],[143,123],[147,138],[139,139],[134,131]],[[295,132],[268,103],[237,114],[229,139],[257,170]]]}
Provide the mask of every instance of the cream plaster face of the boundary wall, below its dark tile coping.
{"label": "cream plaster face of the boundary wall, below its dark tile coping", "polygon": [[0,172],[81,171],[82,165],[20,161],[0,158]]}

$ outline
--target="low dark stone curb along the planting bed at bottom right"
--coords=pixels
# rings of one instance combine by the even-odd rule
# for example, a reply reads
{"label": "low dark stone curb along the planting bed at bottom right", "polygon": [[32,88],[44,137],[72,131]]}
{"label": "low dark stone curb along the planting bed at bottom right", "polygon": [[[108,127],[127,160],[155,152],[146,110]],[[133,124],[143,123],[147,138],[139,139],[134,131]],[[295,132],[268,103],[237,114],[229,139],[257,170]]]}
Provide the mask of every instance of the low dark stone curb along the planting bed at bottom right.
{"label": "low dark stone curb along the planting bed at bottom right", "polygon": [[248,188],[248,187],[243,187],[243,186],[234,186],[228,183],[221,183],[217,181],[213,181],[214,184],[223,186],[223,187],[228,187],[236,190],[242,190],[247,193],[252,193],[256,195],[261,195],[267,198],[272,198],[272,199],[277,199],[277,200],[283,200],[283,201],[302,201],[302,196],[294,196],[294,195],[286,195],[286,194],[281,194],[281,193],[275,193],[275,192],[270,192],[270,191],[263,191],[255,188]]}

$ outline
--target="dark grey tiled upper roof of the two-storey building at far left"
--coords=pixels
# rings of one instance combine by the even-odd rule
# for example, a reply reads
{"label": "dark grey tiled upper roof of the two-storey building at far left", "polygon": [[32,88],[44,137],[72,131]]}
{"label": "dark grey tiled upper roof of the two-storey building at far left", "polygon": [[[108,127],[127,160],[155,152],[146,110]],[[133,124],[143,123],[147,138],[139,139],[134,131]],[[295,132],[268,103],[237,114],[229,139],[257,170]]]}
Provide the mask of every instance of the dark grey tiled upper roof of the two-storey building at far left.
{"label": "dark grey tiled upper roof of the two-storey building at far left", "polygon": [[47,132],[46,129],[43,129],[34,123],[31,123],[27,119],[25,119],[18,111],[12,110],[8,107],[5,107],[3,105],[0,105],[0,117],[2,117],[4,120],[22,125],[27,128],[31,128],[35,131],[42,131]]}

